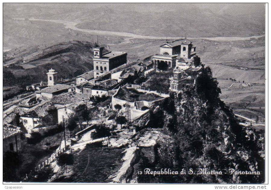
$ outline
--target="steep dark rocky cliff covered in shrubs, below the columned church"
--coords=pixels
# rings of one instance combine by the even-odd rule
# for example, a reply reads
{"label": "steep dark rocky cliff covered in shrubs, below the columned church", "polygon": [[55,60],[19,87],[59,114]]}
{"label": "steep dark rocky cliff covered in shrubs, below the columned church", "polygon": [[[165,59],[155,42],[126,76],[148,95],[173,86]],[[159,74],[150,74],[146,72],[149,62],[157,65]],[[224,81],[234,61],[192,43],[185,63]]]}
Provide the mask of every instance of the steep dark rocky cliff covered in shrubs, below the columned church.
{"label": "steep dark rocky cliff covered in shrubs, below the columned church", "polygon": [[[142,130],[134,136],[138,149],[125,180],[263,182],[264,132],[240,126],[232,110],[220,100],[219,93],[217,81],[207,67],[197,75],[193,87],[172,95],[167,102],[153,107],[148,117],[137,120]],[[144,174],[146,168],[150,171],[166,168],[179,174],[154,176]],[[180,174],[182,169],[186,174]],[[188,174],[189,170],[193,170],[192,175]]]}

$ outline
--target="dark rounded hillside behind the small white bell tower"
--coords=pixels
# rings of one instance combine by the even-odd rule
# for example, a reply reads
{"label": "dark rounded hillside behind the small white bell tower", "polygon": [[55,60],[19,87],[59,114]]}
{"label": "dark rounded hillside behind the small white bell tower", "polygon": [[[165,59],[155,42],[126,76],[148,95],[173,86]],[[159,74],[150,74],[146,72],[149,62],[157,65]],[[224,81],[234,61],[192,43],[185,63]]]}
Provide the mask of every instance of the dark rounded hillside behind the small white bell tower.
{"label": "dark rounded hillside behind the small white bell tower", "polygon": [[46,73],[50,68],[58,72],[59,79],[72,78],[92,70],[91,47],[89,42],[71,41],[20,47],[5,52],[4,98],[5,95],[16,94],[20,89],[25,89],[31,83],[47,81]]}

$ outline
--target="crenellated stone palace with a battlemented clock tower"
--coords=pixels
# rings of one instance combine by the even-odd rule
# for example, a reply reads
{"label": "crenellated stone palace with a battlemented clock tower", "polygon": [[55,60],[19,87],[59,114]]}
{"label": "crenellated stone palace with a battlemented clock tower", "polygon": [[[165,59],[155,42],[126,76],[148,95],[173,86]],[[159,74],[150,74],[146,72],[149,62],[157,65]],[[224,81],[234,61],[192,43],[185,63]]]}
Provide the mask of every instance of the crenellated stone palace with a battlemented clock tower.
{"label": "crenellated stone palace with a battlemented clock tower", "polygon": [[93,70],[94,78],[108,72],[122,64],[127,63],[127,53],[120,51],[108,51],[103,53],[104,47],[95,44],[93,47]]}

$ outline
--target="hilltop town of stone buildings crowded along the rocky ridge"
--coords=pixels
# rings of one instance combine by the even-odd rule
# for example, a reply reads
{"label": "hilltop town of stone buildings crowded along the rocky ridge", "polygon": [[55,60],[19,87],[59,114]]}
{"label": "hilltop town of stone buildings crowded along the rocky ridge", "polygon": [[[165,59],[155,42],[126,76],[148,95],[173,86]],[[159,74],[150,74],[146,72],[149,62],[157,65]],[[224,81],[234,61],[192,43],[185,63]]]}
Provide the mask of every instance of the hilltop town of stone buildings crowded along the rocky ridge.
{"label": "hilltop town of stone buildings crowded along the rocky ridge", "polygon": [[[188,39],[166,41],[160,45],[157,54],[134,62],[127,60],[129,52],[105,51],[98,42],[90,49],[93,51],[93,70],[63,79],[58,77],[58,68],[52,67],[46,73],[47,81],[26,86],[26,97],[4,105],[3,151],[32,155],[35,151],[46,150],[42,154],[33,154],[28,161],[23,159],[17,171],[20,181],[82,181],[80,175],[83,175],[85,182],[144,182],[130,171],[132,165],[134,170],[143,167],[142,163],[136,165],[136,157],[140,160],[139,155],[144,153],[150,165],[155,163],[154,147],[160,141],[173,142],[171,135],[182,132],[176,128],[180,123],[188,126],[191,122],[196,125],[194,127],[201,128],[205,124],[203,120],[211,123],[209,117],[215,114],[221,120],[235,120],[234,114],[219,99],[220,90],[210,68],[204,67],[196,55],[196,47]],[[208,86],[207,90],[200,89],[204,85]],[[222,116],[220,111],[225,114]],[[236,121],[225,123],[216,124],[218,127],[240,127]],[[226,127],[223,130],[224,145],[219,146],[220,151],[226,150],[229,141],[235,143],[235,132],[229,132]],[[252,131],[247,132],[252,134]],[[207,133],[204,141],[214,135]],[[260,150],[263,136],[255,131],[253,134],[261,139],[257,145],[261,156],[255,158],[260,163],[264,155]],[[174,149],[162,145],[160,142],[163,150]],[[200,143],[195,145],[196,148],[200,146]],[[102,147],[103,151],[97,147]],[[162,154],[161,150],[159,154]],[[98,156],[93,156],[94,153]],[[108,154],[112,155],[111,160],[107,160]],[[70,160],[75,161],[65,163],[66,168],[61,167],[61,155],[69,155],[73,157]],[[168,159],[172,157],[170,155]],[[165,155],[162,158],[166,159]],[[104,165],[111,173],[100,174],[102,176],[95,180],[87,173],[92,171],[90,162],[95,165],[99,161],[111,164]],[[255,167],[255,164],[249,164]],[[231,180],[240,182],[244,179]]]}

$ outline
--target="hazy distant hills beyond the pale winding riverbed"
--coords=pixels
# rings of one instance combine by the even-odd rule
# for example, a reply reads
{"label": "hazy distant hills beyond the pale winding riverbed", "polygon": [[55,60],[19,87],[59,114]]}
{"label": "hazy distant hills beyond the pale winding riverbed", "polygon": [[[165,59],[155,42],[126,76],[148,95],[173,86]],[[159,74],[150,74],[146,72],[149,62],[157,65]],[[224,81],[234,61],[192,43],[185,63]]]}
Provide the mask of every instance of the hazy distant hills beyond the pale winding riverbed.
{"label": "hazy distant hills beyond the pale winding riverbed", "polygon": [[[256,3],[5,4],[3,15],[4,29],[22,24],[7,22],[8,18],[36,18],[77,22],[81,29],[145,36],[244,37],[265,32],[265,5]],[[17,31],[17,27],[8,29],[8,33]]]}

